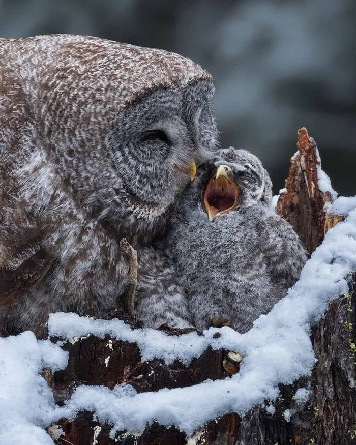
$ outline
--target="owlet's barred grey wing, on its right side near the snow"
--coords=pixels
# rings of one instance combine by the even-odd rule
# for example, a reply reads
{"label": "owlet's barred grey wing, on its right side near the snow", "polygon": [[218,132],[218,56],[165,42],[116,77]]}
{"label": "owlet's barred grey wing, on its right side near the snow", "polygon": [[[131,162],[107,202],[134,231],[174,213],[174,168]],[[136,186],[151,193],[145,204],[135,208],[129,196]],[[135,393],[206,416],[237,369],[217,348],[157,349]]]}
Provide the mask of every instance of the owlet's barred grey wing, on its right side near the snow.
{"label": "owlet's barred grey wing, on its right side near the snow", "polygon": [[279,215],[269,216],[263,226],[261,246],[272,281],[285,288],[300,277],[306,251],[292,226]]}

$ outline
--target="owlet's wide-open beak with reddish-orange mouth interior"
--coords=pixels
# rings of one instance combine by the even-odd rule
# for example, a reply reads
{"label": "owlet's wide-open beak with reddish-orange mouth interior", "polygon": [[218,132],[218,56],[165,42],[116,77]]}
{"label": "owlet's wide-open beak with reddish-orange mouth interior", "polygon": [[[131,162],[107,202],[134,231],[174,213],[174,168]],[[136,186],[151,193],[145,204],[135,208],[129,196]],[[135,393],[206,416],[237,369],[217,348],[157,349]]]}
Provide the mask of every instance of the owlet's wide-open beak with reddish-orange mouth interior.
{"label": "owlet's wide-open beak with reddish-orange mouth interior", "polygon": [[235,209],[240,197],[240,189],[230,179],[231,168],[228,165],[219,165],[212,179],[207,183],[204,193],[204,206],[213,221],[218,215],[222,215]]}

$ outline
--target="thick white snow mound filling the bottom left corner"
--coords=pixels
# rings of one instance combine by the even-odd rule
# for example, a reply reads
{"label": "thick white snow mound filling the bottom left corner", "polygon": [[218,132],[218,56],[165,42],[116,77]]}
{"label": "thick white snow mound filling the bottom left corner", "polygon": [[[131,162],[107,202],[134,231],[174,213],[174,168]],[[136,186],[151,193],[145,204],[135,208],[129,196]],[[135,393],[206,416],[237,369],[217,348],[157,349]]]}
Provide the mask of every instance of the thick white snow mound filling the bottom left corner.
{"label": "thick white snow mound filling the bottom left corner", "polygon": [[39,373],[64,368],[67,352],[27,331],[0,338],[0,357],[0,445],[52,444],[43,428],[56,406]]}

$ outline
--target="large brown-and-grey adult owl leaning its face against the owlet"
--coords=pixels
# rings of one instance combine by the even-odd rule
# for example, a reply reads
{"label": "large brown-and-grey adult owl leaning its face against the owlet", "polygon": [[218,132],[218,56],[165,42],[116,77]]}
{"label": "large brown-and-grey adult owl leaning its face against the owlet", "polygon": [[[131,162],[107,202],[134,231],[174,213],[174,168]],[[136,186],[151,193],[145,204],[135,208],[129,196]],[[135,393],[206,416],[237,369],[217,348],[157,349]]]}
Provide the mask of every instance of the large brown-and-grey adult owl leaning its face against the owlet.
{"label": "large brown-and-grey adult owl leaning its face against the owlet", "polygon": [[[214,151],[214,84],[180,55],[74,35],[0,39],[0,328],[116,305],[138,253],[137,316],[189,324],[152,240]],[[190,177],[191,176],[191,177]]]}

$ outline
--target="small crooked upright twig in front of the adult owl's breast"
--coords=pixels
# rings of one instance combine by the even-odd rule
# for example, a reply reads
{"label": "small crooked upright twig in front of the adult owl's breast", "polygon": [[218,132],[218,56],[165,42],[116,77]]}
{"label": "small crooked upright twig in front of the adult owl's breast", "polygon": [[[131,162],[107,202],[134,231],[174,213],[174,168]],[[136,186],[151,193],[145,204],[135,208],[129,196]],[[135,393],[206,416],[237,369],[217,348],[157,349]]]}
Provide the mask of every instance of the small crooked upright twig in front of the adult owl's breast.
{"label": "small crooked upright twig in front of the adult owl's breast", "polygon": [[120,241],[120,247],[126,260],[126,277],[123,281],[124,293],[123,293],[123,306],[124,310],[130,315],[134,314],[135,307],[135,292],[137,285],[137,252],[128,243],[126,238]]}

